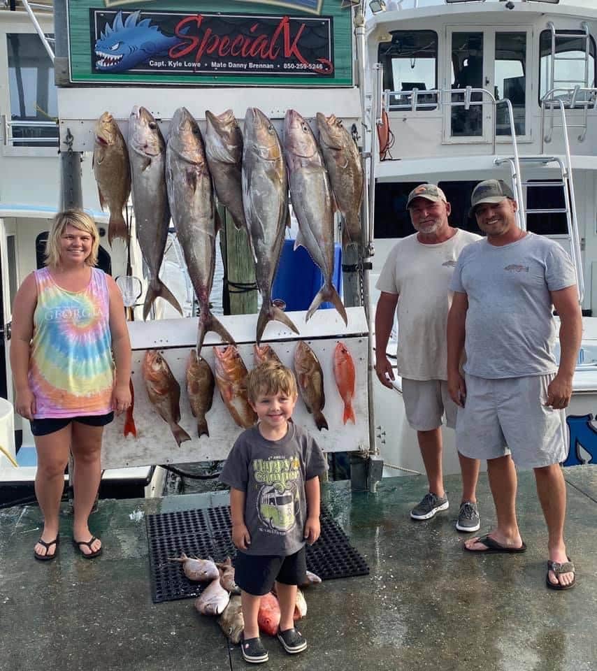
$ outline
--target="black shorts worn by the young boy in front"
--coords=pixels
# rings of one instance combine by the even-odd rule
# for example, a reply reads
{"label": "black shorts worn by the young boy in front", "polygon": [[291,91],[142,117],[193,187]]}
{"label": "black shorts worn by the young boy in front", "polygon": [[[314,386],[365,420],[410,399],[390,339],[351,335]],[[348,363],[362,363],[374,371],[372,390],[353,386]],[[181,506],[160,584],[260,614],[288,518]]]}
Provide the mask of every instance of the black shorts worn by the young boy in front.
{"label": "black shorts worn by the young boy in front", "polygon": [[234,582],[247,594],[263,596],[277,580],[285,585],[302,585],[307,579],[305,547],[287,557],[246,554],[240,550],[234,560]]}

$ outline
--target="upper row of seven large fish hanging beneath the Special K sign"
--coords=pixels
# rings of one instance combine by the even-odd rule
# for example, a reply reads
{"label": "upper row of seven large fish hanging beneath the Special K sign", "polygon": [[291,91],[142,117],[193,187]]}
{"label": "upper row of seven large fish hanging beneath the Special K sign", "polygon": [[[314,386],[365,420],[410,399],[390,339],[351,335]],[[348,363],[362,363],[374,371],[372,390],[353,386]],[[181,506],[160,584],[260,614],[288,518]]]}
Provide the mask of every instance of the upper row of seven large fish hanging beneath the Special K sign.
{"label": "upper row of seven large fish hanging beneath the Special K sign", "polygon": [[271,320],[299,333],[271,298],[289,225],[290,192],[299,222],[295,248],[305,247],[324,276],[324,285],[306,319],[321,303],[330,301],[347,323],[344,305],[332,283],[333,215],[337,209],[343,217],[343,245],[359,242],[364,175],[357,146],[335,116],[317,113],[317,129],[319,143],[303,117],[288,110],[282,145],[271,121],[257,108],[247,109],[244,134],[230,110],[219,116],[207,111],[203,140],[192,115],[179,108],[166,143],[154,117],[135,106],[125,143],[113,117],[103,113],[96,124],[94,174],[101,206],[110,210],[110,244],[116,237],[127,238],[122,210],[132,190],[138,242],[150,275],[144,319],[157,296],[182,313],[159,279],[172,218],[199,301],[198,352],[208,331],[225,342],[234,342],[209,308],[215,237],[220,226],[217,195],[236,227],[245,226],[249,234],[262,299],[257,342]]}

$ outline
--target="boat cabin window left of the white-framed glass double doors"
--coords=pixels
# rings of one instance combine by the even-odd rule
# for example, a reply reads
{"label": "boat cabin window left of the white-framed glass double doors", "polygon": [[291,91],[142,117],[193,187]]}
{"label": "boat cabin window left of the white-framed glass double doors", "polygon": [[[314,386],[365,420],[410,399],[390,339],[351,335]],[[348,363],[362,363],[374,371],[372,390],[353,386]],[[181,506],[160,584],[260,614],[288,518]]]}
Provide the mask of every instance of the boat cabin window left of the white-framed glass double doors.
{"label": "boat cabin window left of the white-framed glass double doors", "polygon": [[412,109],[413,89],[417,89],[416,109],[435,110],[437,89],[438,35],[433,30],[396,30],[391,42],[380,43],[377,53],[384,66],[384,90],[390,91],[389,109]]}

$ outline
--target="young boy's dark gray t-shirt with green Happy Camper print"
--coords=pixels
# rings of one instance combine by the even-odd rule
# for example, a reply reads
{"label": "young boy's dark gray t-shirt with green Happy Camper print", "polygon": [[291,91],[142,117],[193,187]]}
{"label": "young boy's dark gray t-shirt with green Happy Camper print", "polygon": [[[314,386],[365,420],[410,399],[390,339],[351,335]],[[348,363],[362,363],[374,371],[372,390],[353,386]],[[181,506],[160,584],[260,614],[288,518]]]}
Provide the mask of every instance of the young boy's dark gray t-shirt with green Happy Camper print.
{"label": "young boy's dark gray t-shirt with green Happy Camper print", "polygon": [[288,556],[305,544],[305,482],[326,471],[317,442],[293,421],[281,440],[267,440],[258,426],[243,431],[220,480],[245,492],[246,554]]}

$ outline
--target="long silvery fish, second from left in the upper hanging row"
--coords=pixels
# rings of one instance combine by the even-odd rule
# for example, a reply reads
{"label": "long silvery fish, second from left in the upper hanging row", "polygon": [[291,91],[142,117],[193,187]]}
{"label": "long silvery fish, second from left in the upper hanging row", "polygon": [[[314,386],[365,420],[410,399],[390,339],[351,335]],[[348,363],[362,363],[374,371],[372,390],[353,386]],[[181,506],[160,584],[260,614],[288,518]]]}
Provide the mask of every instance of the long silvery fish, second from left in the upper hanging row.
{"label": "long silvery fish, second from left in the upper hanging row", "polygon": [[147,319],[158,296],[182,315],[178,301],[159,279],[170,226],[164,173],[166,144],[156,120],[144,107],[134,106],[129,118],[129,160],[137,238],[150,275],[143,319]]}

